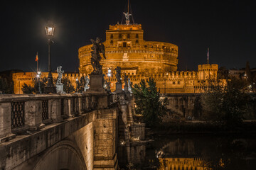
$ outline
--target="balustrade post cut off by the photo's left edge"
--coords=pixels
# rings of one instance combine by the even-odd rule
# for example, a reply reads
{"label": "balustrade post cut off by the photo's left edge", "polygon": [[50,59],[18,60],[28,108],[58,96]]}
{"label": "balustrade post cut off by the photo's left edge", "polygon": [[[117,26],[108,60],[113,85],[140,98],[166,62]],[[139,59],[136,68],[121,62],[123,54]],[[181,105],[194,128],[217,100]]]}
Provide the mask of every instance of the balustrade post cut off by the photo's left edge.
{"label": "balustrade post cut off by the photo's left edge", "polygon": [[0,103],[0,143],[16,137],[11,132],[11,103]]}

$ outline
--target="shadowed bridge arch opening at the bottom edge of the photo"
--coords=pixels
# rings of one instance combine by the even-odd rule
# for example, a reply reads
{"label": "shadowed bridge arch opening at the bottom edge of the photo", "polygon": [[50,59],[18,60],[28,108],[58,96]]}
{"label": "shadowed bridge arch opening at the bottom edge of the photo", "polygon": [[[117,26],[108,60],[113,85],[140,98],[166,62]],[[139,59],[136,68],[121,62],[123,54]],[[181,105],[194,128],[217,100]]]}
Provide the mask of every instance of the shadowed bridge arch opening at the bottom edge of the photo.
{"label": "shadowed bridge arch opening at the bottom edge of the photo", "polygon": [[77,145],[70,140],[63,140],[46,149],[36,162],[34,170],[80,170],[87,169],[85,160]]}

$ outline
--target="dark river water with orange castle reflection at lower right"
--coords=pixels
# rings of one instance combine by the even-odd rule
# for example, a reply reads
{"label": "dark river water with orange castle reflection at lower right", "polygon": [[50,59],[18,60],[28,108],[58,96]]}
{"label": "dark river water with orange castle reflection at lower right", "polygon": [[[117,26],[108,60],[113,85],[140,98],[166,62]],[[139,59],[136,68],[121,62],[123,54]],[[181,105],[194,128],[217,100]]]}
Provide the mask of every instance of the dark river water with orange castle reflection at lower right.
{"label": "dark river water with orange castle reflection at lower right", "polygon": [[122,169],[255,170],[256,135],[158,135],[122,154]]}

